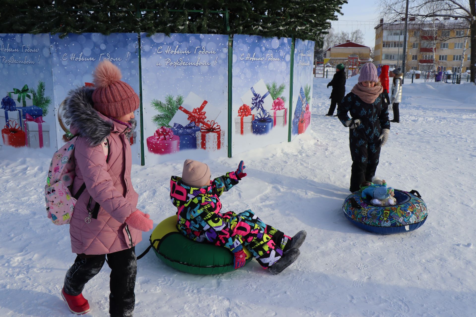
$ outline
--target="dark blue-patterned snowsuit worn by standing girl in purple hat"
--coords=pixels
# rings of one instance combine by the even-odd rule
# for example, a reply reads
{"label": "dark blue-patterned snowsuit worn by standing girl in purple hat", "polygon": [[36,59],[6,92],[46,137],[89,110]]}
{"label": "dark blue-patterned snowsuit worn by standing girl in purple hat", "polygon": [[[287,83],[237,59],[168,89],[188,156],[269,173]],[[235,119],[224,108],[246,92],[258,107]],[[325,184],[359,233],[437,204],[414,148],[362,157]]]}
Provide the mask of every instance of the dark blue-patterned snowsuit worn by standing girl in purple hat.
{"label": "dark blue-patterned snowsuit worn by standing girl in purple hat", "polygon": [[350,176],[350,191],[356,192],[364,181],[372,181],[377,170],[380,157],[380,140],[382,129],[390,129],[388,120],[388,105],[384,94],[367,104],[353,92],[348,93],[337,107],[337,116],[343,125],[350,120],[360,119],[360,125],[349,129],[349,147],[352,157],[352,174]]}

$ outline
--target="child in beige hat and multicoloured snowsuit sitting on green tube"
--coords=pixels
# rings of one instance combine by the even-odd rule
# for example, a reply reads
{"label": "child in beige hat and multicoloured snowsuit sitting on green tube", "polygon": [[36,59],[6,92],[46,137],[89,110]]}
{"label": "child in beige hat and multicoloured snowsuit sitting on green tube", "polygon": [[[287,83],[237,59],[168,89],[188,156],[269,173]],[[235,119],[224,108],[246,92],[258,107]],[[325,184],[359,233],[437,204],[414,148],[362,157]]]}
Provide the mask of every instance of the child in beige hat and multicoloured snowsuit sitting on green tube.
{"label": "child in beige hat and multicoloured snowsuit sitting on green tube", "polygon": [[234,254],[235,269],[245,265],[245,245],[263,268],[278,274],[299,256],[306,231],[290,238],[251,210],[221,213],[219,196],[247,175],[244,169],[241,161],[235,172],[210,181],[207,164],[186,160],[182,177],[172,176],[170,180],[170,198],[178,209],[177,228],[191,240],[228,248]]}

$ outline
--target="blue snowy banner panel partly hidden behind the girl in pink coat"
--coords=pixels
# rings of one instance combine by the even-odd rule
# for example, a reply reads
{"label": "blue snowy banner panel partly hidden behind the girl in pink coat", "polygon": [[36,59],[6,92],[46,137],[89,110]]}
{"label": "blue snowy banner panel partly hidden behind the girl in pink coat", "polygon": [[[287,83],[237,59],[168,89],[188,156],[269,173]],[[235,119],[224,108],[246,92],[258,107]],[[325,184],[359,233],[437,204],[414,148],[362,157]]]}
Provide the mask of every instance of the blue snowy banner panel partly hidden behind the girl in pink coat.
{"label": "blue snowy banner panel partly hidden behind the girl in pink coat", "polygon": [[[63,146],[72,134],[63,118],[63,105],[70,89],[92,86],[94,68],[104,59],[116,65],[127,82],[139,95],[139,37],[137,33],[69,34],[64,38],[50,37],[54,82],[54,114],[57,146]],[[129,138],[132,163],[141,163],[140,108],[134,112],[137,127]]]}

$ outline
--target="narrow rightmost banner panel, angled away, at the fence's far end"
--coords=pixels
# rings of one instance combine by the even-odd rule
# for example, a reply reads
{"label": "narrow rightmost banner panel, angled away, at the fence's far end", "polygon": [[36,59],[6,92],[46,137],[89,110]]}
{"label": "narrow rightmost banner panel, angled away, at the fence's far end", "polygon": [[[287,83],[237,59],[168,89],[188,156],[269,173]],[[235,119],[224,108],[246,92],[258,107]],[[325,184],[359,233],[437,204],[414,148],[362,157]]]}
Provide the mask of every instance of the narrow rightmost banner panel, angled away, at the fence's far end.
{"label": "narrow rightmost banner panel, angled away, at the fence's far end", "polygon": [[311,123],[313,61],[314,41],[296,39],[294,45],[292,138],[297,134],[305,133]]}

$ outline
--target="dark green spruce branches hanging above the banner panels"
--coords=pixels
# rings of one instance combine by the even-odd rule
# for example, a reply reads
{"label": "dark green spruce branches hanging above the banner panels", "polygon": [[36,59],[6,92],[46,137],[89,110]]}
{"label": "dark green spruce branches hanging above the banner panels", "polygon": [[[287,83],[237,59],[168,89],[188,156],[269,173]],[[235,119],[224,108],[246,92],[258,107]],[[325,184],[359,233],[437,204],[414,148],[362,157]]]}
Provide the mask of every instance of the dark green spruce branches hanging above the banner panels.
{"label": "dark green spruce branches hanging above the banner panels", "polygon": [[320,43],[347,0],[0,2],[0,12],[8,12],[0,20],[0,33],[58,33],[60,37],[86,32],[250,34]]}

